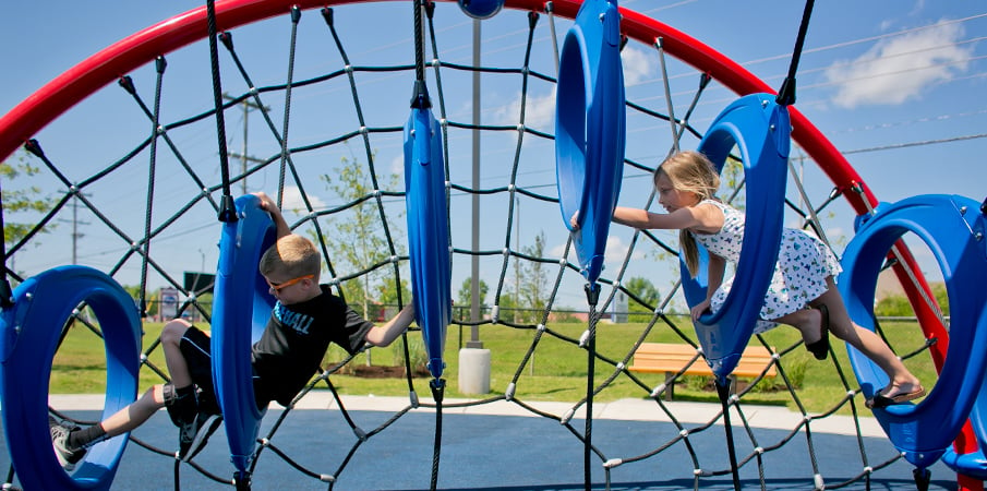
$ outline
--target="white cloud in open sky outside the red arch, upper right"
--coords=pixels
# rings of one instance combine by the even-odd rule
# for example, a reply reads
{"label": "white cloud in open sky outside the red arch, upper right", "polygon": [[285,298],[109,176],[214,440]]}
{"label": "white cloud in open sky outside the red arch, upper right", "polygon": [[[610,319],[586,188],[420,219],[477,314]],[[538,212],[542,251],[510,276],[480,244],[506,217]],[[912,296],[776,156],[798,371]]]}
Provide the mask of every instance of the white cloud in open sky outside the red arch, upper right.
{"label": "white cloud in open sky outside the red arch, upper right", "polygon": [[938,24],[879,41],[855,60],[841,60],[826,70],[839,89],[833,103],[854,108],[898,105],[919,98],[925,87],[966,71],[971,49],[956,45],[961,26]]}

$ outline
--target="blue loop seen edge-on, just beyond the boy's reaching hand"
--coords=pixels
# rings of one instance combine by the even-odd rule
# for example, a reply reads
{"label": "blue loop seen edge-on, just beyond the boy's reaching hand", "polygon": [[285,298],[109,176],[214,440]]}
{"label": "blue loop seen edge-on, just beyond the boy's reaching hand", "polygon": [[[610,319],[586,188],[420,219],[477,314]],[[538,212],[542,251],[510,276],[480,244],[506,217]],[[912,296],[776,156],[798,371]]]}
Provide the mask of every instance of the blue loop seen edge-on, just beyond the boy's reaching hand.
{"label": "blue loop seen edge-on, just beyond the boy's reaching hand", "polygon": [[405,124],[405,202],[414,319],[438,379],[446,326],[453,316],[449,217],[446,206],[442,131],[428,109],[412,109]]}

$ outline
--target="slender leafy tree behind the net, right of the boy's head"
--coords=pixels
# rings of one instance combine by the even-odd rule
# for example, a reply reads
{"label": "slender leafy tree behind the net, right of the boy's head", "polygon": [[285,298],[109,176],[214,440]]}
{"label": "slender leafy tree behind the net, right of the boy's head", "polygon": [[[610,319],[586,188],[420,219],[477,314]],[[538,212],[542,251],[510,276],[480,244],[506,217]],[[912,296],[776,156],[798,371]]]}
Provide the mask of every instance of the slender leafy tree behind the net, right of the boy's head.
{"label": "slender leafy tree behind the net, right of the boy's head", "polygon": [[[357,204],[348,208],[346,216],[329,218],[328,230],[332,231],[324,233],[321,239],[328,244],[334,266],[360,272],[387,261],[392,250],[384,233],[378,201],[374,197],[366,199],[374,196],[377,191],[369,172],[370,167],[361,165],[356,157],[342,157],[341,163],[335,176],[323,175],[322,180],[344,203]],[[397,175],[392,173],[387,177],[389,189],[397,189]],[[392,237],[395,232],[392,227]],[[396,242],[394,247],[393,253],[401,255],[399,243]],[[363,315],[370,315],[371,303],[380,303],[384,297],[396,300],[398,288],[395,285],[396,280],[387,278],[388,276],[393,278],[393,272],[392,267],[381,267],[346,282],[341,289],[347,302],[358,312],[362,310]],[[406,288],[406,285],[401,285],[400,288]],[[393,291],[393,295],[383,294],[388,290]],[[377,295],[376,299],[374,294]],[[402,298],[410,299],[410,295]]]}

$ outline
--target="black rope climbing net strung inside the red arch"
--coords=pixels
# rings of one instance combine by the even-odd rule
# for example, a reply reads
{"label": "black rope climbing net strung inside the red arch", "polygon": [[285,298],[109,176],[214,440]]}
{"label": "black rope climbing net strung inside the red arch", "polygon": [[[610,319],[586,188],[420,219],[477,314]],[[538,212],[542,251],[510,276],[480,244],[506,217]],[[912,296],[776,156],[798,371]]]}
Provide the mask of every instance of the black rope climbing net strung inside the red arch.
{"label": "black rope climbing net strung inside the red arch", "polygon": [[[402,25],[411,25],[407,8],[395,12],[384,5],[374,9],[380,9],[374,15],[382,19],[404,15]],[[334,285],[358,310],[374,318],[381,309],[376,304],[390,303],[386,307],[396,309],[410,301],[399,157],[416,67],[408,61],[411,56],[408,44],[398,49],[347,43],[357,26],[365,25],[357,22],[364,14],[365,8],[360,7],[306,11],[297,17],[286,12],[285,16],[238,29],[244,33],[242,38],[246,43],[242,45],[238,31],[222,33],[219,49],[233,193],[258,190],[277,193],[289,221],[293,219],[292,228],[316,239],[321,246],[326,265],[323,280]],[[570,387],[573,391],[567,395],[570,403],[563,410],[546,409],[559,407],[542,404],[553,395],[529,388],[532,381],[553,375],[543,366],[565,369],[569,366],[557,360],[583,360],[586,348],[580,334],[590,322],[599,320],[585,320],[582,324],[567,322],[587,309],[575,254],[570,252],[566,230],[556,221],[562,218],[554,183],[551,115],[557,53],[553,44],[561,43],[555,33],[564,33],[570,24],[551,12],[505,11],[498,14],[497,21],[508,27],[492,36],[489,43],[501,48],[486,51],[482,67],[472,64],[466,46],[452,40],[454,35],[461,36],[471,26],[456,5],[428,4],[423,22],[424,76],[445,145],[454,275],[469,276],[461,272],[471,271],[476,259],[482,278],[490,286],[480,319],[470,318],[468,306],[456,306],[445,354],[450,363],[447,376],[455,381],[456,348],[466,344],[474,328],[481,342],[504,332],[515,339],[506,351],[493,352],[495,363],[516,366],[509,380],[492,380],[488,396],[453,396],[443,405],[448,410],[508,402],[532,416],[557,421],[558,431],[570,433],[573,444],[578,446],[583,438],[579,411],[587,404],[585,393],[580,395],[582,382]],[[387,25],[388,21],[382,22]],[[117,87],[107,87],[84,103],[89,107],[106,105],[105,120],[79,121],[70,112],[25,146],[27,153],[20,158],[38,172],[13,182],[37,185],[51,196],[51,207],[26,233],[9,240],[8,275],[12,283],[57,265],[45,265],[46,261],[38,254],[50,249],[41,246],[52,236],[63,233],[67,221],[74,220],[72,225],[76,226],[79,217],[84,217],[84,233],[74,228],[72,233],[73,243],[75,238],[82,238],[73,246],[73,251],[82,252],[80,263],[97,265],[116,278],[140,277],[134,296],[147,314],[159,312],[153,307],[161,300],[156,288],[173,288],[182,298],[176,313],[208,324],[207,288],[202,285],[190,288],[182,277],[183,271],[197,270],[200,261],[206,266],[204,271],[210,271],[201,244],[215,246],[219,235],[216,216],[222,180],[214,147],[216,113],[207,97],[212,81],[204,70],[207,56],[201,45],[204,43],[169,53],[167,61],[159,58],[156,63],[122,76]],[[631,41],[624,47],[624,53],[625,64],[628,64],[627,57],[633,57],[631,63],[662,67],[657,77],[627,79],[628,146],[621,199],[622,204],[629,206],[655,208],[651,191],[654,167],[673,148],[695,147],[701,136],[700,129],[733,96],[687,63],[667,57],[660,41],[651,46]],[[473,120],[469,108],[476,74],[485,88],[481,94],[482,113]],[[394,91],[394,86],[401,88]],[[129,109],[111,109],[120,106],[122,99],[130,100],[125,106]],[[249,146],[245,119],[250,122]],[[44,140],[57,139],[80,124],[105,124],[107,136],[92,142],[87,148],[57,154],[43,151]],[[238,134],[241,124],[242,136]],[[286,137],[289,127],[290,139]],[[479,135],[482,148],[479,185],[471,173],[474,134]],[[797,148],[793,155],[798,155]],[[836,207],[845,206],[839,200],[844,190],[824,189],[817,193],[814,190],[818,187],[804,187],[804,181],[823,178],[811,165],[802,168],[795,165],[786,199],[787,221],[798,221],[824,238],[826,228],[820,218],[832,216]],[[731,161],[726,169],[721,195],[743,207],[744,176],[737,170],[742,169],[739,160]],[[141,181],[146,187],[139,184]],[[479,200],[482,209],[479,246],[473,242],[470,227],[476,219],[470,214],[473,200]],[[8,218],[7,223],[10,221]],[[679,397],[683,387],[698,385],[697,391],[702,391],[702,384],[709,379],[685,373],[689,367],[705,363],[701,355],[697,351],[688,367],[667,378],[664,373],[631,370],[634,352],[641,343],[664,340],[697,346],[688,318],[683,315],[687,308],[677,283],[676,236],[661,231],[621,231],[617,226],[612,232],[624,233],[628,242],[610,250],[619,258],[610,263],[600,278],[603,291],[595,314],[609,316],[616,312],[611,319],[615,321],[625,315],[621,311],[629,310],[633,323],[604,322],[598,326],[599,338],[622,333],[626,343],[618,347],[613,343],[598,344],[594,397],[648,400],[657,418],[669,421],[674,430],[642,442],[643,450],[637,455],[615,455],[604,446],[594,445],[594,472],[602,476],[597,483],[609,487],[616,469],[634,472],[636,466],[662,466],[663,459],[685,456],[693,468],[688,474],[693,476],[694,488],[702,488],[707,479],[734,471],[724,464],[723,455],[698,453],[693,444],[697,438],[722,434],[718,423],[722,423],[723,412],[713,411],[708,420],[689,422],[695,419],[691,406],[666,400],[675,385],[679,387]],[[356,239],[363,243],[345,247],[347,241]],[[839,244],[834,246],[839,250]],[[64,248],[64,243],[60,247]],[[215,252],[209,251],[208,255],[215,258]],[[648,279],[657,287],[657,295],[646,296],[633,287],[635,278],[642,276],[641,271],[654,275]],[[454,280],[454,297],[459,282]],[[121,279],[121,283],[135,282]],[[622,298],[627,299],[629,307],[615,309],[614,304]],[[73,336],[100,336],[99,326],[89,321],[85,309],[65,324],[67,335],[70,331]],[[874,476],[901,456],[890,443],[867,443],[866,431],[862,430],[857,417],[870,415],[863,408],[863,397],[842,346],[834,346],[834,356],[816,366],[823,367],[824,376],[840,381],[839,392],[829,394],[824,402],[803,398],[802,388],[814,383],[805,375],[808,363],[817,362],[808,361],[795,333],[782,327],[753,339],[775,354],[763,373],[770,370],[777,375],[741,381],[730,396],[731,419],[737,427],[734,443],[738,466],[746,472],[756,469],[757,486],[763,489],[771,479],[771,468],[765,465],[766,455],[785,445],[802,445],[805,458],[789,464],[804,469],[805,481],[801,486],[811,488],[824,483],[828,489],[839,489],[863,483],[869,487]],[[278,430],[292,423],[296,412],[292,405],[284,411],[268,414],[267,418],[275,422],[262,434],[254,467],[263,472],[265,460],[280,459],[311,477],[313,483],[323,482],[333,489],[337,481],[341,482],[348,464],[359,457],[365,442],[385,431],[400,431],[392,426],[409,412],[435,407],[428,397],[419,400],[417,395],[422,391],[428,394],[424,387],[429,382],[426,375],[412,370],[414,354],[422,350],[418,336],[412,330],[398,348],[404,354],[400,358],[411,394],[404,409],[373,428],[361,427],[361,415],[347,409],[347,397],[337,388],[337,376],[357,371],[371,357],[380,364],[388,354],[372,349],[357,357],[334,359],[330,352],[325,370],[298,395],[296,403],[315,391],[328,391],[345,424],[352,431],[351,446],[345,451],[345,442],[334,442],[333,446],[338,448],[336,455],[317,464],[282,451]],[[72,342],[72,336],[67,337],[67,344]],[[159,342],[148,338],[144,342],[142,375],[147,381],[142,382],[142,387],[144,383],[167,380],[163,362],[155,361],[161,360]],[[924,350],[926,342],[917,334],[910,346],[893,348],[907,359]],[[543,352],[557,360],[549,361]],[[577,366],[574,370],[579,373],[580,369]],[[585,367],[581,373],[585,376]],[[571,384],[574,380],[578,379],[559,383]],[[930,388],[935,381],[923,382]],[[534,387],[543,385],[539,381]],[[686,399],[697,397],[694,392],[686,391]],[[706,393],[713,398],[705,400],[717,400],[714,393]],[[751,414],[762,404],[785,404],[801,418],[781,438],[766,440],[750,423]],[[57,407],[52,411],[63,415]],[[843,422],[833,423],[834,420]],[[833,424],[853,435],[845,440],[853,443],[841,448],[844,454],[856,456],[853,469],[828,465],[826,455],[816,445],[818,432],[827,431],[817,429]],[[156,447],[131,438],[135,445],[128,453],[159,454],[163,465],[174,459],[174,448]],[[222,439],[210,443],[224,444]],[[509,446],[510,442],[505,445]],[[510,452],[507,446],[492,451]],[[846,462],[845,455],[842,462]],[[193,459],[190,467],[217,483],[230,483],[228,466],[204,468]],[[178,468],[176,464],[177,480]],[[841,478],[834,480],[831,475]],[[7,482],[15,482],[13,469],[9,476]],[[424,486],[422,482],[421,487]]]}

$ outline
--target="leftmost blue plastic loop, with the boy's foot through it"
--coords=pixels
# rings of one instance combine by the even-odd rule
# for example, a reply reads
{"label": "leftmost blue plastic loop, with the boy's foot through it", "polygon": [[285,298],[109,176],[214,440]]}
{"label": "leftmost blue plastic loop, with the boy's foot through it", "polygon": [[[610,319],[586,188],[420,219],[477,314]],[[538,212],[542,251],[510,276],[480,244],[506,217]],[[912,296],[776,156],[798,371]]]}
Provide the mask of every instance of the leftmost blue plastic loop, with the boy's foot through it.
{"label": "leftmost blue plastic loop, with the boy's foot through it", "polygon": [[0,314],[0,383],[10,457],[24,489],[107,490],[128,434],[96,444],[72,476],[51,450],[48,381],[62,327],[81,302],[96,314],[106,344],[103,418],[133,403],[141,368],[141,318],[133,298],[115,279],[87,266],[60,266],[14,289]]}

